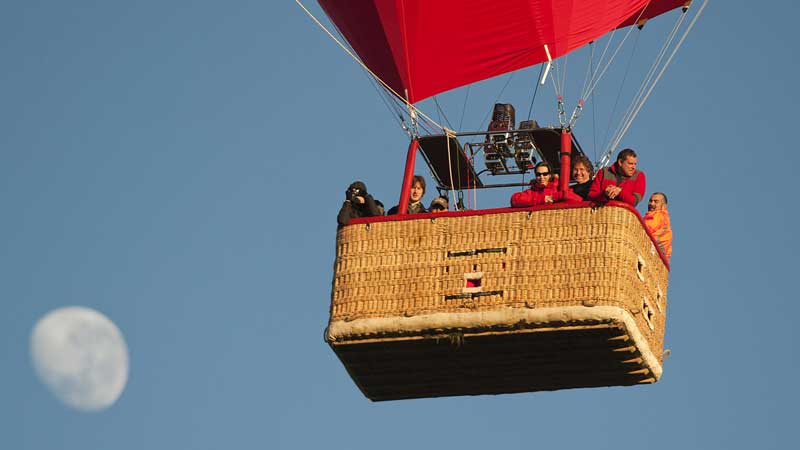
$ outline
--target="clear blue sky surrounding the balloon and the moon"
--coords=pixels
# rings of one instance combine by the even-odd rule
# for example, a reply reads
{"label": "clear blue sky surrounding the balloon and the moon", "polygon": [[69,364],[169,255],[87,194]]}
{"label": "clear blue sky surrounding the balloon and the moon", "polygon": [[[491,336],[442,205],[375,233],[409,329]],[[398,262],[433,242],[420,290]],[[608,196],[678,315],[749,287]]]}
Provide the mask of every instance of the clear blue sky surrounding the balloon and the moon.
{"label": "clear blue sky surrounding the balloon and the moon", "polygon": [[[670,200],[661,381],[370,403],[322,339],[343,190],[396,203],[407,145],[360,69],[290,1],[5,2],[0,448],[791,447],[795,10],[712,1],[622,143]],[[502,100],[527,110],[537,73]],[[583,120],[586,147],[602,130]],[[29,361],[67,305],[127,339],[104,412],[58,403]]]}

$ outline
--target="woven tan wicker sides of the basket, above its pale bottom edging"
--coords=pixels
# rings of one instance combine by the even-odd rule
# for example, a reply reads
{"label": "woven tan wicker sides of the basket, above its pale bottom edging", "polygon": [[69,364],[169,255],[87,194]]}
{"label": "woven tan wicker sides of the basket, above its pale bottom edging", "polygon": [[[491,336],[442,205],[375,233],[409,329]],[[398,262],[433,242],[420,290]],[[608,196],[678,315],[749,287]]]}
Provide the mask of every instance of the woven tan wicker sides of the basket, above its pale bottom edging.
{"label": "woven tan wicker sides of the basket, above its pale bottom edging", "polygon": [[[465,274],[476,273],[480,292],[465,293]],[[622,207],[358,224],[337,236],[331,323],[617,306],[634,316],[661,360],[667,281],[638,217]]]}

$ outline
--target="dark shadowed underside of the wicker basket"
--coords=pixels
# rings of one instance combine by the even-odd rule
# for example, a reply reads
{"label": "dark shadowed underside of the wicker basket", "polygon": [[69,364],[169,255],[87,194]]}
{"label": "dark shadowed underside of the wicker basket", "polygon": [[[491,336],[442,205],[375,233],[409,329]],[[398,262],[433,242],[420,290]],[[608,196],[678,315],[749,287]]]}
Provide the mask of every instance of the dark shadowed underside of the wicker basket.
{"label": "dark shadowed underside of the wicker basket", "polygon": [[331,347],[364,395],[384,401],[653,383],[660,373],[653,374],[636,341],[623,322],[610,322]]}

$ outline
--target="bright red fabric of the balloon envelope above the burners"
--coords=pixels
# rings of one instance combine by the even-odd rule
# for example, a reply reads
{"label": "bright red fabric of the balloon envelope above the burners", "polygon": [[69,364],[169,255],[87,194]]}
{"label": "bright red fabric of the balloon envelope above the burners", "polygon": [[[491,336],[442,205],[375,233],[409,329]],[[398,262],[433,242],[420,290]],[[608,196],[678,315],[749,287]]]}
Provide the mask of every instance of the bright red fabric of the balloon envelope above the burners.
{"label": "bright red fabric of the balloon envelope above the burners", "polygon": [[[414,103],[557,58],[597,39],[648,4],[674,0],[319,0],[375,74]],[[680,5],[678,5],[680,6]],[[631,19],[633,17],[633,19]]]}

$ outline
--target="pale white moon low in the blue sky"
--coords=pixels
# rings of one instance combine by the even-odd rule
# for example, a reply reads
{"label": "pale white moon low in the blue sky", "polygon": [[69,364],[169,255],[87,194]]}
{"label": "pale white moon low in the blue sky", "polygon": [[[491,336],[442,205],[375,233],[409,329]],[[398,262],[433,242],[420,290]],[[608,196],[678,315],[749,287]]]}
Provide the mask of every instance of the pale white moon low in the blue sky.
{"label": "pale white moon low in the blue sky", "polygon": [[119,328],[103,314],[81,306],[55,309],[31,332],[36,375],[67,406],[101,411],[128,382],[128,347]]}

